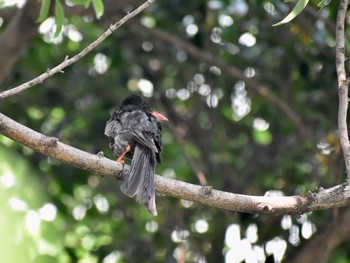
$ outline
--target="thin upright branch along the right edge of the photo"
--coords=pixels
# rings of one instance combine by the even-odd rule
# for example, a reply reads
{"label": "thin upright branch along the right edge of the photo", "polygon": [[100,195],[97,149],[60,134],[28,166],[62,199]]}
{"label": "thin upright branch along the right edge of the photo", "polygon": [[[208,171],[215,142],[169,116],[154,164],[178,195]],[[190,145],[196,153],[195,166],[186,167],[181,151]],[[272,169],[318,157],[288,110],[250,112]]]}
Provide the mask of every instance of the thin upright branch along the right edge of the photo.
{"label": "thin upright branch along the right edge of the photo", "polygon": [[350,183],[350,142],[347,127],[348,112],[348,85],[349,79],[345,72],[345,17],[349,5],[348,0],[341,0],[337,15],[336,26],[336,69],[338,74],[338,93],[339,93],[339,110],[338,110],[338,133],[339,142],[343,151],[347,182]]}

